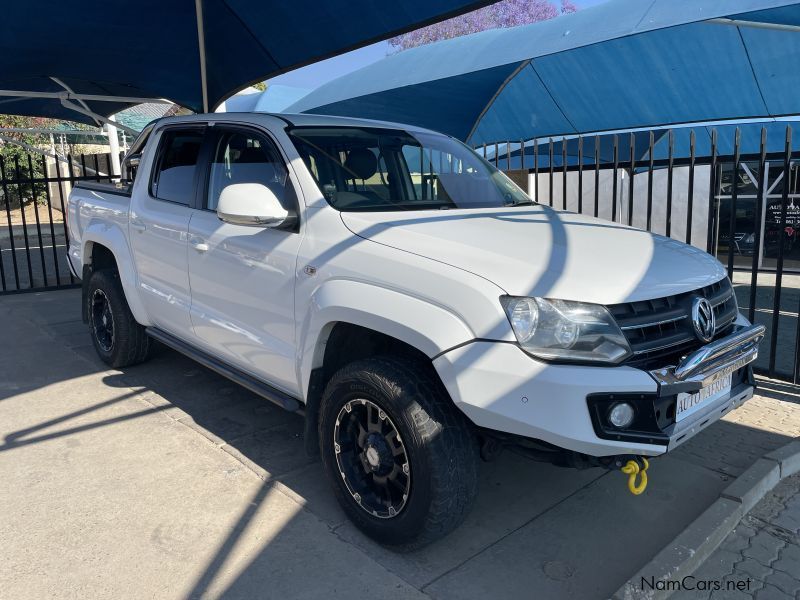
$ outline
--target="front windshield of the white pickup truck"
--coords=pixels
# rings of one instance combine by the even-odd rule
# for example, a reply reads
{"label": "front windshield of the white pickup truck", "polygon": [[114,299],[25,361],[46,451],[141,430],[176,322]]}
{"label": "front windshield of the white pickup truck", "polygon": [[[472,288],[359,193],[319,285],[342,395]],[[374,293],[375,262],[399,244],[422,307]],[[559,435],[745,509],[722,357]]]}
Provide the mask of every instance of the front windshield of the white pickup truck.
{"label": "front windshield of the white pickup truck", "polygon": [[328,203],[341,211],[530,205],[513,181],[443,135],[361,127],[289,134]]}

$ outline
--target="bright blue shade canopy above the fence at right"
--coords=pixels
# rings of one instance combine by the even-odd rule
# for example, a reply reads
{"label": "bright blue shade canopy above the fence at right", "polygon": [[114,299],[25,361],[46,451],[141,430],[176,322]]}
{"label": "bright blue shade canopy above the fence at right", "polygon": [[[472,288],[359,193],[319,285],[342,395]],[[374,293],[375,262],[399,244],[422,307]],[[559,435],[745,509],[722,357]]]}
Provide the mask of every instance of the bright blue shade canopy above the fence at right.
{"label": "bright blue shade canopy above the fence at right", "polygon": [[798,0],[610,0],[390,55],[287,112],[397,121],[476,146],[777,118],[800,114],[798,59]]}

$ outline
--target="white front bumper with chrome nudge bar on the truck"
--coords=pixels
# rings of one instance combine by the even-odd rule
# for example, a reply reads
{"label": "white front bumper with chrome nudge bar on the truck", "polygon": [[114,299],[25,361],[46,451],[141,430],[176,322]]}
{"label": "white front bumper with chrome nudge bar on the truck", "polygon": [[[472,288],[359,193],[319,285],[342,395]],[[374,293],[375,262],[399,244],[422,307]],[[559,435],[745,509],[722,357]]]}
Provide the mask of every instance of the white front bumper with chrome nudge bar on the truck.
{"label": "white front bumper with chrome nudge bar on the truck", "polygon": [[[680,365],[653,372],[543,363],[515,344],[485,341],[451,350],[437,357],[434,366],[456,405],[480,427],[589,456],[656,456],[752,397],[749,363],[757,356],[761,337],[763,327],[740,316],[735,332],[719,341],[723,343],[712,342]],[[675,422],[678,394],[697,391],[732,367],[729,394]],[[609,429],[603,415],[607,405],[620,399],[635,404],[637,419],[646,418],[627,430]]]}

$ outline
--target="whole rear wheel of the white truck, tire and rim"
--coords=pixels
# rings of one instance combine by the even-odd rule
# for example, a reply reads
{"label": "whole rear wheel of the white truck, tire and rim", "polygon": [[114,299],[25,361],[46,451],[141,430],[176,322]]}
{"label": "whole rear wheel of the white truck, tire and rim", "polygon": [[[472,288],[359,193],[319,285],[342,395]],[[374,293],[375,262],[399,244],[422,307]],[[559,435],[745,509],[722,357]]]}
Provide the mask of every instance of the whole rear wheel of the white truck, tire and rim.
{"label": "whole rear wheel of the white truck, tire and rim", "polygon": [[135,365],[150,354],[151,341],[134,319],[116,271],[92,273],[86,294],[92,342],[106,364],[119,368]]}

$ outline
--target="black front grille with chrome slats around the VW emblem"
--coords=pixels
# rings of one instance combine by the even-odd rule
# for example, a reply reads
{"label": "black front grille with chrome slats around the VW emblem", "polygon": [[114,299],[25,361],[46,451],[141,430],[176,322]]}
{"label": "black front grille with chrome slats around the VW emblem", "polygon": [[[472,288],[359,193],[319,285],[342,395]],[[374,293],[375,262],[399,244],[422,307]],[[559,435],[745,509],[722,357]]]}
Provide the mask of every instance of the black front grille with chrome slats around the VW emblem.
{"label": "black front grille with chrome slats around the VW emblem", "polygon": [[609,306],[608,310],[633,350],[633,356],[625,364],[642,369],[671,366],[702,346],[692,325],[692,301],[696,296],[704,296],[714,307],[714,338],[726,335],[738,312],[727,277],[675,296]]}

